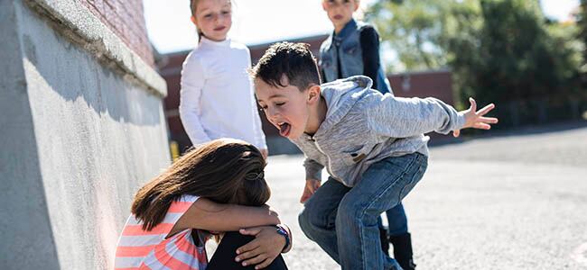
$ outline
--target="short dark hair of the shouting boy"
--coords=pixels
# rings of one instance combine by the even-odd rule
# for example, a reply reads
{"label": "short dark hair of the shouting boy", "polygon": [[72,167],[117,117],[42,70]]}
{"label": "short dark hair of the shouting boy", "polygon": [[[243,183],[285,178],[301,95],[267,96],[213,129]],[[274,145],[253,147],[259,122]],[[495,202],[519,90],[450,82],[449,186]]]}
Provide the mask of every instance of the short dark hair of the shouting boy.
{"label": "short dark hair of the shouting boy", "polygon": [[286,76],[289,85],[298,87],[300,91],[310,85],[320,85],[321,78],[316,58],[306,43],[278,42],[269,49],[250,74],[254,79],[260,78],[267,85],[285,87],[282,77]]}

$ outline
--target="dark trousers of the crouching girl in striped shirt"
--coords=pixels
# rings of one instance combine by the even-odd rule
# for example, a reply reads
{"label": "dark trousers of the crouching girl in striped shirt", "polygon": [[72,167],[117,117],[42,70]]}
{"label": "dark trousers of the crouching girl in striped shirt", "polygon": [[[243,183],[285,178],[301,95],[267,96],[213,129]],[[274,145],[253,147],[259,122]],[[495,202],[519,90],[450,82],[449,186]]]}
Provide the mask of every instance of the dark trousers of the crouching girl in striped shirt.
{"label": "dark trousers of the crouching girl in striped shirt", "polygon": [[[255,239],[253,236],[242,235],[238,231],[228,231],[220,241],[216,252],[210,259],[206,270],[255,270],[255,266],[242,266],[242,262],[236,262],[237,248],[247,245],[248,242]],[[269,270],[286,270],[284,258],[279,255],[273,260],[271,265],[265,269]]]}

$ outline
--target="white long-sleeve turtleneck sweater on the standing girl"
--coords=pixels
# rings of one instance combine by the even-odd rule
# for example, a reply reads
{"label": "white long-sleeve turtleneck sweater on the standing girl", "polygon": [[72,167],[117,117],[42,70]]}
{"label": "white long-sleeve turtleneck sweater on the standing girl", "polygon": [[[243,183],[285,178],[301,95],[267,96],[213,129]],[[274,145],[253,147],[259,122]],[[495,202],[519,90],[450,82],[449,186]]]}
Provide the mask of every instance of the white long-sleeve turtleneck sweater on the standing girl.
{"label": "white long-sleeve turtleneck sweater on the standing girl", "polygon": [[247,74],[247,46],[232,40],[200,40],[183,62],[180,116],[194,145],[219,138],[267,148]]}

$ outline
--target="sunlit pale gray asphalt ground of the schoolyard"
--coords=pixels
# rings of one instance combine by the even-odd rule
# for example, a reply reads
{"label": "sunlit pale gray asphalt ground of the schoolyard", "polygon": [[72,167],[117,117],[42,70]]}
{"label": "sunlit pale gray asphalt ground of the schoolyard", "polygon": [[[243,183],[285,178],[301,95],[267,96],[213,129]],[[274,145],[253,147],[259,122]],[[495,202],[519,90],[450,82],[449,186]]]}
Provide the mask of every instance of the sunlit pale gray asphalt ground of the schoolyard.
{"label": "sunlit pale gray asphalt ground of the schoolyard", "polygon": [[[405,198],[417,269],[587,269],[587,124],[431,148]],[[293,229],[290,269],[340,268],[297,222],[302,156],[272,156],[271,206]]]}

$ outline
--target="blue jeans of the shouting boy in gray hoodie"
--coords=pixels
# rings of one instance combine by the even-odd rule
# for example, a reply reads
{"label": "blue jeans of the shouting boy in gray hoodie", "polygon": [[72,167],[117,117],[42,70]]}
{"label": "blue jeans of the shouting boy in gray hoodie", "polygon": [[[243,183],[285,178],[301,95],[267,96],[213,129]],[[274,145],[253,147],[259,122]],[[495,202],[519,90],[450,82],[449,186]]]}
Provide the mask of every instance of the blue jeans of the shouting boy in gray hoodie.
{"label": "blue jeans of the shouting boy in gray hoodie", "polygon": [[401,269],[381,250],[377,218],[404,199],[427,164],[419,153],[387,157],[369,166],[352,188],[329,178],[304,204],[303,233],[342,269]]}

